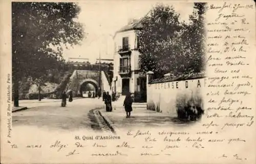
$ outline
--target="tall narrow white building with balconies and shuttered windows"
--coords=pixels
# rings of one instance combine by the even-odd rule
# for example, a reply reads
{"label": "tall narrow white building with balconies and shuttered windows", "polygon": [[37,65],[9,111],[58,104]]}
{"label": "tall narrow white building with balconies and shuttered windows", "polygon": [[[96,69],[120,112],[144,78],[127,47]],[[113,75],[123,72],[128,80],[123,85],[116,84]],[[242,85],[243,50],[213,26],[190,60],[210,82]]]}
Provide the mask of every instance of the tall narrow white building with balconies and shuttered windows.
{"label": "tall narrow white building with balconies and shuttered windows", "polygon": [[114,76],[112,91],[120,95],[131,92],[135,101],[146,101],[146,77],[140,73],[139,39],[137,31],[141,29],[139,21],[116,32],[114,36]]}

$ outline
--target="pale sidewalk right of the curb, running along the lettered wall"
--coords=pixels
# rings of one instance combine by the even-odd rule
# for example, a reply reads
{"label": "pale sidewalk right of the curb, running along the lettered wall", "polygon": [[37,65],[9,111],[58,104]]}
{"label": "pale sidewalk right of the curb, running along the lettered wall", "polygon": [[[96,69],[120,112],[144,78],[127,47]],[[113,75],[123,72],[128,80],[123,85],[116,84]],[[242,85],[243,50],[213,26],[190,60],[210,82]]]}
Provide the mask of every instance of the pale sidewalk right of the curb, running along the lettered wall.
{"label": "pale sidewalk right of the curb, running along the lettered wall", "polygon": [[157,126],[185,126],[184,122],[181,122],[169,116],[168,113],[159,113],[152,110],[146,110],[146,108],[133,108],[131,117],[126,118],[124,108],[113,108],[112,112],[106,112],[105,109],[99,110],[100,114],[112,126],[115,130],[127,127],[157,127]]}

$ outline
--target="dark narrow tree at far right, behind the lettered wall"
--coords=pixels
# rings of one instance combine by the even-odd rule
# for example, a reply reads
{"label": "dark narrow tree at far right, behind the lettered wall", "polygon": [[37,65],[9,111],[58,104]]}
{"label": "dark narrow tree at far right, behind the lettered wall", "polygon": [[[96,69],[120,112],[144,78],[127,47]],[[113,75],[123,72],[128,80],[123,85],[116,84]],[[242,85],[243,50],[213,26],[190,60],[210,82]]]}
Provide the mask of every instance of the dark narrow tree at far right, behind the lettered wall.
{"label": "dark narrow tree at far right, behind the lettered wall", "polygon": [[199,73],[205,66],[205,3],[195,3],[194,12],[189,15],[189,24],[183,25],[183,54],[187,59],[187,73]]}

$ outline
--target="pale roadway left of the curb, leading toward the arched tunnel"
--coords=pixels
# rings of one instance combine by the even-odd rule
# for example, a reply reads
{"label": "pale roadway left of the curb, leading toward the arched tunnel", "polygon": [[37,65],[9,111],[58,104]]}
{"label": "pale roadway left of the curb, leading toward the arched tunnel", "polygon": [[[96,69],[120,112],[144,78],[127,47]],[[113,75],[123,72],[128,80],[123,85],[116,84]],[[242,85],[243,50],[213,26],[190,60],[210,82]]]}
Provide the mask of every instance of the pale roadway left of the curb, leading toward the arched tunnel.
{"label": "pale roadway left of the curb, leading toward the arched tunnel", "polygon": [[25,102],[27,110],[13,112],[12,125],[36,126],[49,130],[94,129],[109,130],[102,118],[93,109],[101,108],[101,99],[77,99],[60,107],[60,101]]}

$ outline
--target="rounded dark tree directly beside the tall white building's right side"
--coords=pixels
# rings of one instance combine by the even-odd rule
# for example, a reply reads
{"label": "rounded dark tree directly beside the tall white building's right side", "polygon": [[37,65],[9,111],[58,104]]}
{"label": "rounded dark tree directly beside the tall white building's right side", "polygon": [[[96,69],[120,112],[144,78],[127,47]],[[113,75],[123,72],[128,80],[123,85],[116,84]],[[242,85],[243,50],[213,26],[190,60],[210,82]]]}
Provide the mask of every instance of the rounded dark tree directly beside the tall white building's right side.
{"label": "rounded dark tree directly beside the tall white building's right side", "polygon": [[141,20],[140,39],[141,68],[153,71],[161,77],[170,68],[176,67],[177,38],[181,30],[179,14],[173,7],[158,5]]}

